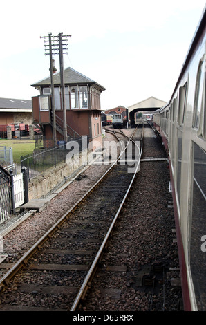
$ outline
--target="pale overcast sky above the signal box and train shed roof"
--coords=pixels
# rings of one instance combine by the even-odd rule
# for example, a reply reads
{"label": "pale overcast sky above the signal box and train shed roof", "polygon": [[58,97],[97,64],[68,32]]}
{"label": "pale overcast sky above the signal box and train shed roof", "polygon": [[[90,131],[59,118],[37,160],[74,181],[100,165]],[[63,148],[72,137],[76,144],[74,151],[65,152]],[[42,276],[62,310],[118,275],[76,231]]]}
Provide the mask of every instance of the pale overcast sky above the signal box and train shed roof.
{"label": "pale overcast sky above the signal box and train shed roof", "polygon": [[63,32],[72,35],[64,68],[106,88],[102,110],[151,96],[167,102],[204,7],[205,0],[5,1],[0,97],[39,95],[30,85],[50,75],[40,36]]}

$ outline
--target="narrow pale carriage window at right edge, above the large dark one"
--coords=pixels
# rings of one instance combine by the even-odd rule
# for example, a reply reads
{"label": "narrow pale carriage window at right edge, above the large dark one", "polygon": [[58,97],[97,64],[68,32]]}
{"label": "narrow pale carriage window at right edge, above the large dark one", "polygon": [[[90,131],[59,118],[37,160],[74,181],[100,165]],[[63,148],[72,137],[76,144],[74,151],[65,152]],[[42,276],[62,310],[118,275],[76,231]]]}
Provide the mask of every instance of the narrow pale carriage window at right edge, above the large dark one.
{"label": "narrow pale carriage window at right edge, above the large dark one", "polygon": [[194,129],[198,129],[200,124],[200,112],[203,106],[203,85],[204,85],[204,62],[201,61],[198,68],[198,75],[196,79],[196,92],[194,99],[194,115],[193,124]]}

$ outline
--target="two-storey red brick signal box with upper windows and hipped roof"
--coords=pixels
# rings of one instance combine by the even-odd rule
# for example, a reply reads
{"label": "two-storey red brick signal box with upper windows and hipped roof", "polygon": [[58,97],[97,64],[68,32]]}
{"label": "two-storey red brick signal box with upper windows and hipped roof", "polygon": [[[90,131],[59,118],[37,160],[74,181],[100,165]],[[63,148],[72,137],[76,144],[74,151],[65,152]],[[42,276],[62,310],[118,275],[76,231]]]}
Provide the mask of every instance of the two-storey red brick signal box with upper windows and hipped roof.
{"label": "two-storey red brick signal box with upper windows and hipped roof", "polygon": [[[56,127],[53,127],[50,77],[32,84],[39,89],[39,96],[32,97],[33,120],[40,124],[47,140],[64,139],[63,106],[60,73],[53,75]],[[102,141],[100,95],[105,90],[94,80],[73,70],[64,70],[64,93],[68,138],[88,136],[89,141]]]}

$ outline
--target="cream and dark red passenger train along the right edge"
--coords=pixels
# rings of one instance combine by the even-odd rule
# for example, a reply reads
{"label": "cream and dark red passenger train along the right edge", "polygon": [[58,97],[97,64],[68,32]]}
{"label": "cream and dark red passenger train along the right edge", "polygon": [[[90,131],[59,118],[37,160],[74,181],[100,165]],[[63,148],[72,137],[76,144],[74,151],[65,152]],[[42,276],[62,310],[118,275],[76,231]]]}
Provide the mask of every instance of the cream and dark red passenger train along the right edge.
{"label": "cream and dark red passenger train along the right edge", "polygon": [[206,10],[153,126],[169,158],[185,310],[206,310]]}

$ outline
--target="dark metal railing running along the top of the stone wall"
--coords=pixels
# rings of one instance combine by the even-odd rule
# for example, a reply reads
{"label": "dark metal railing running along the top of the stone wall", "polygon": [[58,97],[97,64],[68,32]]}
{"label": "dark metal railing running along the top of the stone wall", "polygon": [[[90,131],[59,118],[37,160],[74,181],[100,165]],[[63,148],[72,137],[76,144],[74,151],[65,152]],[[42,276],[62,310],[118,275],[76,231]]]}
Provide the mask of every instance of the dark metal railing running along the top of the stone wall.
{"label": "dark metal railing running along the top of the stone wall", "polygon": [[[50,167],[56,167],[57,164],[66,161],[66,156],[72,150],[75,154],[75,149],[78,149],[79,152],[86,149],[88,146],[88,137],[85,138],[84,141],[82,141],[82,138],[79,138],[78,140],[72,140],[67,143],[59,141],[58,147],[47,150],[39,149],[31,155],[21,156],[21,169],[27,169],[28,181],[41,173],[45,173]],[[70,149],[66,149],[68,143],[70,144]]]}

